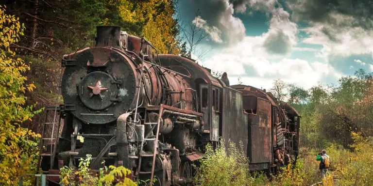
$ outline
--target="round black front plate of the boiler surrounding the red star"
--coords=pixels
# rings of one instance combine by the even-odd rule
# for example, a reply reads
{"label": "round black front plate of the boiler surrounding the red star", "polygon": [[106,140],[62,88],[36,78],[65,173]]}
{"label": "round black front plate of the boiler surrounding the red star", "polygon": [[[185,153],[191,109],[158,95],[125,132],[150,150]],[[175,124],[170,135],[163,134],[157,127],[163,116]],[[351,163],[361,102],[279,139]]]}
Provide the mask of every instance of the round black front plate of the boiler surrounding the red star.
{"label": "round black front plate of the boiler surrounding the red star", "polygon": [[[71,111],[75,117],[85,123],[105,124],[134,107],[138,75],[127,56],[106,47],[86,48],[71,55],[75,56],[75,65],[65,68],[61,89],[65,104],[75,105],[75,110]],[[107,63],[106,71],[92,71],[88,61],[95,65]],[[102,96],[91,96],[93,89],[89,86],[94,87],[98,81],[107,90]],[[82,101],[84,104],[80,104]]]}

